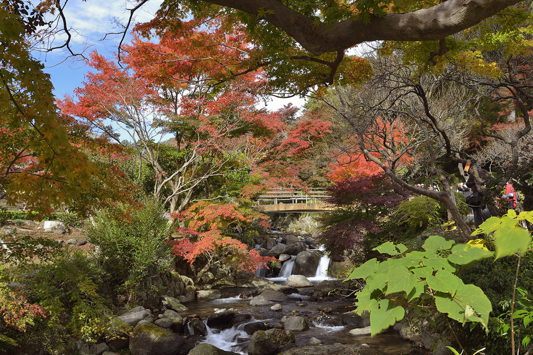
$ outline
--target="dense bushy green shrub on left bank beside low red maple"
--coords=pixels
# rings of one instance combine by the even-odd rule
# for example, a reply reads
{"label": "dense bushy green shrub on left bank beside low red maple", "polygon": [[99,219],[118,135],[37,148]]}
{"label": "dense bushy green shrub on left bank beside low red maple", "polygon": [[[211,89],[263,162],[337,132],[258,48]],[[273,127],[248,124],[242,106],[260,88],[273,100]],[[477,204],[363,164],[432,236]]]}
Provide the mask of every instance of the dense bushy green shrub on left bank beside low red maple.
{"label": "dense bushy green shrub on left bank beside low red maple", "polygon": [[116,291],[136,295],[136,286],[147,276],[158,274],[168,264],[167,221],[157,201],[145,200],[142,207],[120,204],[102,210],[88,240],[99,247],[98,260]]}

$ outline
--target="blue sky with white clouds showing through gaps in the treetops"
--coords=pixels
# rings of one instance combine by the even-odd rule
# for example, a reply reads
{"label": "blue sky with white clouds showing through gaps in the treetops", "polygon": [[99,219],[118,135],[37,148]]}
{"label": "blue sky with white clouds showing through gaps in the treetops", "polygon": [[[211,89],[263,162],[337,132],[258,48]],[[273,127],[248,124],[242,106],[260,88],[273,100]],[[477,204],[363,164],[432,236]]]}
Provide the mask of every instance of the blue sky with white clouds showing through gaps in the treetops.
{"label": "blue sky with white clouds showing through gaps in the treetops", "polygon": [[[159,8],[162,0],[150,0],[136,11],[135,23],[146,22],[154,17],[154,13]],[[84,52],[86,56],[95,49],[103,55],[114,57],[117,52],[117,46],[120,40],[119,36],[108,36],[108,39],[102,38],[109,32],[119,32],[114,21],[119,20],[126,23],[129,11],[135,4],[133,2],[113,1],[113,0],[69,0],[64,7],[64,13],[71,31],[71,47],[75,53]],[[133,24],[132,26],[133,27]],[[66,36],[56,38],[54,45],[61,44]],[[129,37],[126,37],[125,43]],[[85,73],[88,70],[87,65],[82,61],[64,61],[66,53],[55,50],[51,53],[34,52],[37,59],[45,65],[45,71],[52,76],[54,85],[54,94],[58,98],[63,95],[72,95],[76,87],[81,86]],[[298,97],[290,99],[274,99],[268,104],[270,110],[276,110],[283,105],[293,103],[296,106],[303,105],[304,100]]]}

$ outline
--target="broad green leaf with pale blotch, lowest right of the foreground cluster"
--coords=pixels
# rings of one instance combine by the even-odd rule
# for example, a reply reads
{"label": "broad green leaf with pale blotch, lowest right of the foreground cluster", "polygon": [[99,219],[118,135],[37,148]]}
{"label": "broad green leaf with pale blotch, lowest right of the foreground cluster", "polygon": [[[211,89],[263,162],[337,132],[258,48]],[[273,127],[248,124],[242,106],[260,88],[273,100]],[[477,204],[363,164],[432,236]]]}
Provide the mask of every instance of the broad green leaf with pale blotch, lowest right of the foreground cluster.
{"label": "broad green leaf with pale blotch, lowest right of the foreground cluster", "polygon": [[[435,305],[439,312],[448,313],[448,317],[452,319],[462,323],[465,321],[480,322],[485,328],[487,328],[489,313],[492,311],[487,296],[481,288],[474,285],[460,286],[455,297],[443,292],[435,293]],[[467,306],[473,309],[473,314],[470,314]]]}

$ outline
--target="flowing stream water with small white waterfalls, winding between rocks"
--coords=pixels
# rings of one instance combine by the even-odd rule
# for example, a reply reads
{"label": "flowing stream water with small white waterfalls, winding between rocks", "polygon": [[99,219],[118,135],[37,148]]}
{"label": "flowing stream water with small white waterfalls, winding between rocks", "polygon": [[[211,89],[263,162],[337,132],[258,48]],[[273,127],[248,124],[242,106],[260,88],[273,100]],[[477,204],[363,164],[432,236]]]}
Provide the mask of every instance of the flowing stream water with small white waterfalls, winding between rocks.
{"label": "flowing stream water with small white waterfalls, winding between rocks", "polygon": [[[320,248],[322,249],[322,248]],[[291,275],[294,266],[295,257],[282,264],[278,277],[268,278],[277,284],[284,285],[287,277]],[[323,256],[318,264],[317,271],[314,277],[308,277],[313,285],[317,285],[323,280],[330,279],[327,276],[329,265],[329,258]],[[264,277],[265,271],[263,269],[257,270],[256,275]],[[282,306],[282,311],[272,311],[270,306],[249,306],[251,296],[247,298],[252,288],[227,288],[220,290],[222,297],[216,300],[197,300],[183,303],[189,308],[186,312],[180,312],[182,317],[197,315],[201,319],[211,316],[215,309],[230,309],[236,311],[236,315],[247,315],[251,317],[240,323],[233,324],[228,329],[216,329],[207,326],[207,321],[204,323],[207,327],[207,334],[205,336],[193,334],[192,329],[188,330],[189,340],[196,343],[209,343],[217,346],[217,348],[234,351],[241,354],[247,354],[247,346],[250,336],[244,331],[244,327],[249,323],[257,323],[261,321],[267,327],[279,328],[281,318],[283,316],[302,316],[310,325],[310,329],[301,332],[293,332],[296,337],[296,345],[308,345],[312,337],[319,339],[324,344],[368,344],[378,354],[400,355],[410,353],[413,350],[413,345],[408,341],[402,340],[398,332],[386,331],[374,338],[370,335],[353,336],[349,331],[356,326],[347,326],[343,323],[343,313],[354,309],[353,299],[337,299],[333,297],[325,297],[316,302],[308,301],[310,294],[314,292],[311,287],[302,287],[298,289],[298,293],[289,294],[290,300],[287,302],[279,302]],[[243,293],[245,293],[243,295]],[[245,297],[242,299],[241,297]],[[273,302],[278,303],[278,302]],[[330,307],[332,311],[324,313],[319,311],[318,307]],[[246,318],[242,316],[240,318]]]}

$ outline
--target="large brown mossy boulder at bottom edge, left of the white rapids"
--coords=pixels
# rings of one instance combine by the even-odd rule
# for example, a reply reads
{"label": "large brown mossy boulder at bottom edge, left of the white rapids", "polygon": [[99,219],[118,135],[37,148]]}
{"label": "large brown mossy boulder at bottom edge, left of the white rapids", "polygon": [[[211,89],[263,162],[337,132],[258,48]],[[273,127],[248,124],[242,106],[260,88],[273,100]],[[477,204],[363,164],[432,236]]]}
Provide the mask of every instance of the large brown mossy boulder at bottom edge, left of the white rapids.
{"label": "large brown mossy boulder at bottom edge, left of the white rapids", "polygon": [[130,338],[132,355],[187,355],[192,348],[184,337],[151,323],[136,326]]}

